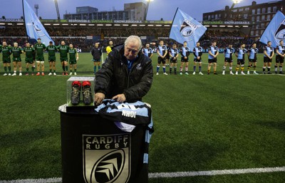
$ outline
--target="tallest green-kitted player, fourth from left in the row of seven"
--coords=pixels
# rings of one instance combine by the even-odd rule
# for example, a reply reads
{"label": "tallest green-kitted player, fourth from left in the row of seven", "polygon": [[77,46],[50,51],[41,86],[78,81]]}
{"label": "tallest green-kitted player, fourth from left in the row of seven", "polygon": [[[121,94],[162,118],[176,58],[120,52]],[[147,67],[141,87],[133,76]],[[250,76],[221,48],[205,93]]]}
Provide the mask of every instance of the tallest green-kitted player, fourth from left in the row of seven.
{"label": "tallest green-kitted player, fourth from left in the row of seven", "polygon": [[[38,73],[36,75],[44,75],[44,58],[43,58],[43,51],[46,49],[46,45],[41,43],[41,38],[38,38],[38,43],[33,46],[36,51],[36,70]],[[41,68],[41,73],[40,73]]]}

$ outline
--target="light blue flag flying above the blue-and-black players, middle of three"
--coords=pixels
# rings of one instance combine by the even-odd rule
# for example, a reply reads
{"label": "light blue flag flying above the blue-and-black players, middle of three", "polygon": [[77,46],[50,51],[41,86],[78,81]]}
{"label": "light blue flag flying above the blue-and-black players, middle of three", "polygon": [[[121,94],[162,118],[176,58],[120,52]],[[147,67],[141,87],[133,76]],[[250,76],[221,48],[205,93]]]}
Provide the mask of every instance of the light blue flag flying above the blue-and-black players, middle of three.
{"label": "light blue flag flying above the blue-and-black players, middle of three", "polygon": [[178,43],[187,41],[187,46],[193,50],[196,43],[199,41],[199,38],[203,36],[206,30],[207,28],[201,23],[185,14],[185,12],[180,9],[177,9],[170,30],[170,38]]}

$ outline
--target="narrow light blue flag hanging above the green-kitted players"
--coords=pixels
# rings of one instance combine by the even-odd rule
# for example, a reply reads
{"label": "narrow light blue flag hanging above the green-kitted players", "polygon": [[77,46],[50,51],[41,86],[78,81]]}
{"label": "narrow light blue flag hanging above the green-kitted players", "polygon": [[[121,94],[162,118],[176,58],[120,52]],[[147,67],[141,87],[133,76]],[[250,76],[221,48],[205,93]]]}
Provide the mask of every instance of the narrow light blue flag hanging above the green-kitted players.
{"label": "narrow light blue flag hanging above the green-kitted players", "polygon": [[[31,6],[27,3],[26,0],[23,1],[24,6],[24,19],[26,23],[26,32],[30,39],[41,38],[41,43],[48,45],[49,41],[53,40],[48,35],[48,32],[41,24],[41,21],[36,16]],[[54,42],[53,42],[54,44]]]}

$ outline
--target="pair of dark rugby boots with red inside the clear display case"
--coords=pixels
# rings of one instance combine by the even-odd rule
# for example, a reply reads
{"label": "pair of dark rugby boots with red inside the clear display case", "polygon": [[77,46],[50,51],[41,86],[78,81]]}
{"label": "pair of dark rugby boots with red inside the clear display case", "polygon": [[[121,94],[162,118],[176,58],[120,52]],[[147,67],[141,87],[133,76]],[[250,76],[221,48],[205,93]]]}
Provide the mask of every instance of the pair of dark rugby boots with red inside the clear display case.
{"label": "pair of dark rugby boots with red inside the clear display case", "polygon": [[71,90],[71,104],[78,105],[81,102],[81,90],[83,95],[83,103],[90,105],[93,102],[91,83],[88,80],[84,80],[82,83],[79,80],[72,82]]}

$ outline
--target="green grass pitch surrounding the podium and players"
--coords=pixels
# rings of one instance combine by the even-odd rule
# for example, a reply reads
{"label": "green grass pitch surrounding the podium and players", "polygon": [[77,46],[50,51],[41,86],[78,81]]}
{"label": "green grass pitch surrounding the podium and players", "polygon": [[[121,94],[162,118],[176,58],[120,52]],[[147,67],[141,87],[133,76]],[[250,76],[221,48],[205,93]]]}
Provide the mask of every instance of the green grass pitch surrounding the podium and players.
{"label": "green grass pitch surrounding the podium and players", "polygon": [[[78,74],[93,75],[90,53],[79,57]],[[156,63],[155,57],[154,71]],[[154,75],[144,98],[155,122],[150,172],[285,166],[285,77],[222,75],[222,64],[221,55],[219,75]],[[0,180],[61,177],[58,106],[66,103],[69,76],[4,77],[3,70],[1,65]],[[155,182],[283,183],[285,172],[150,179]]]}

